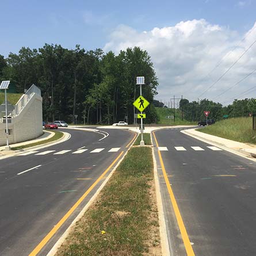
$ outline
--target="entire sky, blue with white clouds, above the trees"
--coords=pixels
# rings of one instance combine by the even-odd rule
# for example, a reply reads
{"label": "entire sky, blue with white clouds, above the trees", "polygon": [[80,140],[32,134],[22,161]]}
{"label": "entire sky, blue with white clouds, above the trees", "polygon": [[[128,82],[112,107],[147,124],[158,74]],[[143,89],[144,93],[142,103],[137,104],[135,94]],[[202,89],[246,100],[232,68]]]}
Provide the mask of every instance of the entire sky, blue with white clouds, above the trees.
{"label": "entire sky, blue with white clouds, above the trees", "polygon": [[0,54],[45,43],[119,54],[139,46],[156,100],[256,97],[256,0],[0,0]]}

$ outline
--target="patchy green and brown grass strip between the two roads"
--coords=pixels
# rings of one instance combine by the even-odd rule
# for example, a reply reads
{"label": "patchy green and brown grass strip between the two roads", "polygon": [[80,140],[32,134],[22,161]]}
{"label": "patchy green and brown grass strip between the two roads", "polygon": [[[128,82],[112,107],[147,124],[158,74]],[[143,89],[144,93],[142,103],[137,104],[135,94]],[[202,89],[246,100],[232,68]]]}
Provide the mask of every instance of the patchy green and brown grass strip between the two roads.
{"label": "patchy green and brown grass strip between the two roads", "polygon": [[134,147],[56,256],[161,255],[152,150]]}

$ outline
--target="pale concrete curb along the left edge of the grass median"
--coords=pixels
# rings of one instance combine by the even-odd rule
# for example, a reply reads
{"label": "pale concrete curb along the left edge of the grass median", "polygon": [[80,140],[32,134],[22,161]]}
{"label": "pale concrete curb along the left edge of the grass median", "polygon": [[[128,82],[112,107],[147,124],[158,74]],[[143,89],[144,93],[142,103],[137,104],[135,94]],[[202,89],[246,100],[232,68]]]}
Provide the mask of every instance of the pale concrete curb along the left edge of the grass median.
{"label": "pale concrete curb along the left edge of the grass median", "polygon": [[79,221],[82,216],[85,214],[85,212],[87,211],[87,209],[91,206],[91,204],[93,204],[95,198],[97,198],[98,194],[100,194],[101,190],[104,188],[104,186],[106,185],[106,183],[109,181],[109,179],[112,177],[114,171],[117,169],[117,167],[119,167],[120,163],[123,161],[124,157],[128,154],[129,150],[132,148],[133,143],[135,142],[135,140],[133,140],[131,146],[128,148],[128,150],[125,152],[125,154],[121,157],[121,159],[117,162],[116,166],[114,166],[113,170],[110,171],[108,177],[106,177],[105,181],[101,184],[100,188],[97,189],[97,191],[94,193],[94,195],[90,198],[89,202],[87,202],[87,204],[85,205],[85,207],[83,207],[82,211],[79,212],[79,214],[77,215],[77,217],[75,217],[75,219],[72,221],[72,223],[70,224],[70,226],[67,228],[67,230],[63,233],[62,236],[60,236],[60,238],[58,239],[58,241],[54,244],[54,246],[52,247],[52,249],[49,251],[49,253],[46,256],[54,256],[56,254],[56,252],[58,251],[59,247],[62,245],[62,243],[64,242],[64,240],[67,238],[67,236],[70,234],[72,227],[75,226],[75,223],[77,223],[77,221]]}

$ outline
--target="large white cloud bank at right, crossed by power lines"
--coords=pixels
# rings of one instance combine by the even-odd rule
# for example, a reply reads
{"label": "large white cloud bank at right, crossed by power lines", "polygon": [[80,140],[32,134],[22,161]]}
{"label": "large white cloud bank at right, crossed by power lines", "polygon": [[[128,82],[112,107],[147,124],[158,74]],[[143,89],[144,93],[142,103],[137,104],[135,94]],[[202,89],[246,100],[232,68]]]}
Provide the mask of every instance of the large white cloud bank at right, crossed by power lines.
{"label": "large white cloud bank at right, crossed by power lines", "polygon": [[[246,38],[241,42],[243,37]],[[112,50],[118,54],[121,49],[127,47],[139,46],[145,49],[151,56],[159,79],[159,94],[156,96],[158,100],[169,101],[174,94],[183,94],[184,98],[197,100],[202,91],[211,86],[255,39],[256,24],[246,35],[240,36],[236,31],[209,24],[202,19],[181,21],[175,26],[153,28],[143,32],[120,25],[110,35],[104,50]],[[236,45],[239,46],[234,49]],[[253,71],[256,67],[255,49],[256,44],[202,97],[216,97]],[[225,57],[221,60],[223,56]],[[220,60],[221,63],[215,68]],[[215,70],[205,78],[213,68]],[[216,101],[225,101],[254,84],[256,86],[256,75],[251,75]]]}

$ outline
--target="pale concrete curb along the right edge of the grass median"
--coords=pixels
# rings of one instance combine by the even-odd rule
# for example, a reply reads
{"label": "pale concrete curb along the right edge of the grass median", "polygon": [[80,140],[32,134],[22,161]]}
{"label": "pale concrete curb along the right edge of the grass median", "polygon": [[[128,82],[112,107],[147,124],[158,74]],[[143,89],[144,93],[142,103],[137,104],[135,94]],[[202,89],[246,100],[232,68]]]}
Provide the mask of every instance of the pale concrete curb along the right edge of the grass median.
{"label": "pale concrete curb along the right edge of the grass median", "polygon": [[[151,142],[152,140],[152,132],[150,133]],[[158,219],[159,219],[159,231],[160,231],[160,238],[161,238],[161,249],[163,256],[170,256],[169,250],[169,240],[167,239],[167,228],[166,228],[166,221],[165,221],[165,213],[163,211],[163,201],[160,192],[160,184],[158,179],[158,169],[156,165],[155,159],[155,152],[154,152],[154,145],[152,145],[152,157],[154,163],[154,177],[155,177],[155,191],[156,191],[156,203],[158,207]]]}

